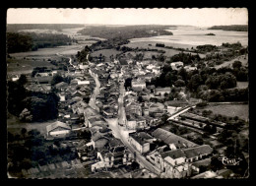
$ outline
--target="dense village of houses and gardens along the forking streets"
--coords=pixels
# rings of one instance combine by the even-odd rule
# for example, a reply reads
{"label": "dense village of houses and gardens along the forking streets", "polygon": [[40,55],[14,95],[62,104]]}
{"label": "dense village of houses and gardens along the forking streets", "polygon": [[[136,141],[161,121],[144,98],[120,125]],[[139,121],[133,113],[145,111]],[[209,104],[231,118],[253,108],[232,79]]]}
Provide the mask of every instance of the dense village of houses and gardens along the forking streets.
{"label": "dense village of houses and gardens along the forking streets", "polygon": [[[211,157],[224,152],[216,136],[225,123],[193,111],[199,100],[168,100],[172,88],[147,86],[160,76],[162,63],[126,56],[95,63],[88,57],[82,63],[74,56],[59,61],[57,67],[66,66],[67,71],[43,69],[33,80],[28,76],[27,90],[54,89],[59,96],[58,118],[46,126],[45,140],[52,142],[52,149],[71,148],[77,157],[23,169],[25,177],[222,178],[232,174],[225,168],[217,172],[209,168]],[[181,67],[182,62],[171,63],[173,70]],[[52,87],[56,75],[69,77],[70,82]],[[182,135],[170,132],[175,127]],[[211,133],[205,130],[209,127]],[[202,135],[208,144],[197,141]]]}

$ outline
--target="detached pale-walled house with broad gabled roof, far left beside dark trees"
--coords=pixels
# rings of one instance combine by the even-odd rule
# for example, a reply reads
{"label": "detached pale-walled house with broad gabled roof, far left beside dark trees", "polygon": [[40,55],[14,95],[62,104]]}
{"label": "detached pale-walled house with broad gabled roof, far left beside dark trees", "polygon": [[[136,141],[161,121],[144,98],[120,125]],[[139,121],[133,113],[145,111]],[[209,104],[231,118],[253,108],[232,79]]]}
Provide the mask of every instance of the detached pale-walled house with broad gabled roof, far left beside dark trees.
{"label": "detached pale-walled house with broad gabled roof, far left beside dark trees", "polygon": [[55,123],[46,126],[47,138],[65,138],[70,132],[71,127],[60,121],[56,121]]}

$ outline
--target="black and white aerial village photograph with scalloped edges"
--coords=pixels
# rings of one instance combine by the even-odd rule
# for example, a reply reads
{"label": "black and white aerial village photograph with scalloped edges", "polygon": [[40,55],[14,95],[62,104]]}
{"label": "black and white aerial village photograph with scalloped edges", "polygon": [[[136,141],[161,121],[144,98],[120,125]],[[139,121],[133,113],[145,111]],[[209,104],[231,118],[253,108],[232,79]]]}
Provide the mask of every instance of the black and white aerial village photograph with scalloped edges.
{"label": "black and white aerial village photograph with scalloped edges", "polygon": [[8,179],[248,178],[248,53],[242,7],[9,8]]}

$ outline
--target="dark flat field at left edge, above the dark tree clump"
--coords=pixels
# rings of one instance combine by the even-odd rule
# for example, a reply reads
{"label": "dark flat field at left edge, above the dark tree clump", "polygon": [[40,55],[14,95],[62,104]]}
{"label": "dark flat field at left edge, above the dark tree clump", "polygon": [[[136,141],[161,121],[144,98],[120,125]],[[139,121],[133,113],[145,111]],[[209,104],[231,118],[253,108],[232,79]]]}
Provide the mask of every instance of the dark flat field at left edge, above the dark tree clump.
{"label": "dark flat field at left edge, above the dark tree clump", "polygon": [[32,73],[34,67],[55,67],[45,56],[45,61],[42,58],[32,59],[7,59],[7,74],[28,74]]}

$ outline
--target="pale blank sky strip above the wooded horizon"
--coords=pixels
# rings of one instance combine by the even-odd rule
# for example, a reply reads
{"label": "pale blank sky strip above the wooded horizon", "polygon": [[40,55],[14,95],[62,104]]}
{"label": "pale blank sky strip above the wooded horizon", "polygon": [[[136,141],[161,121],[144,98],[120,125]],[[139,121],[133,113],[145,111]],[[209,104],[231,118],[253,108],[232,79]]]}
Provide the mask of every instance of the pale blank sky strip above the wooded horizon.
{"label": "pale blank sky strip above the wooded horizon", "polygon": [[247,25],[246,8],[8,9],[7,24]]}

